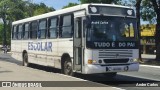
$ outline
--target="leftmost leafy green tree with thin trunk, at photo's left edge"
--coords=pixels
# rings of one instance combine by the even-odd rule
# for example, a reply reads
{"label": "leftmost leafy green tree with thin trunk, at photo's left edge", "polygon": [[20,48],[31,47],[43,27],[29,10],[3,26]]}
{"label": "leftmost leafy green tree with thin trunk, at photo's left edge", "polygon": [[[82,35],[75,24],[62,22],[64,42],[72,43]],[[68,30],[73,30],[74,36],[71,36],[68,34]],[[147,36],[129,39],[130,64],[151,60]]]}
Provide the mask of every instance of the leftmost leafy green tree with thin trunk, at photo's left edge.
{"label": "leftmost leafy green tree with thin trunk, at photo's left edge", "polygon": [[21,0],[0,0],[0,18],[2,18],[3,21],[3,45],[7,44],[7,24],[10,23],[10,20],[12,20],[14,16],[16,16],[16,18],[23,16],[22,8],[17,8],[21,4],[20,1]]}

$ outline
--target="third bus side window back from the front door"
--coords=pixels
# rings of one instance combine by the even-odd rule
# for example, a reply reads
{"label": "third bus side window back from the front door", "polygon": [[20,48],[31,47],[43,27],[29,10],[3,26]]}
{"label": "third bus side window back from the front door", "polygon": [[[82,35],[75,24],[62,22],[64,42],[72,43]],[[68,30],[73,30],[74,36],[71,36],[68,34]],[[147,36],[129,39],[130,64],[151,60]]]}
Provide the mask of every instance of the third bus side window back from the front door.
{"label": "third bus side window back from the front door", "polygon": [[47,21],[41,20],[39,22],[38,38],[46,38]]}

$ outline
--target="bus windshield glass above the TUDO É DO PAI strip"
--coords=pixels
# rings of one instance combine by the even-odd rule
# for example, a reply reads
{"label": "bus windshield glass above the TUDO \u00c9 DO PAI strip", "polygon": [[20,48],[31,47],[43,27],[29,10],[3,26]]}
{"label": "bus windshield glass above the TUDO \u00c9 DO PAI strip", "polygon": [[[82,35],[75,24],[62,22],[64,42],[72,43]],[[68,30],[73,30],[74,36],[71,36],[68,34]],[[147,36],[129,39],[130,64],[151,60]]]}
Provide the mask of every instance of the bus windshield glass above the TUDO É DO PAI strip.
{"label": "bus windshield glass above the TUDO \u00c9 DO PAI strip", "polygon": [[124,17],[91,17],[87,41],[135,41],[136,19]]}

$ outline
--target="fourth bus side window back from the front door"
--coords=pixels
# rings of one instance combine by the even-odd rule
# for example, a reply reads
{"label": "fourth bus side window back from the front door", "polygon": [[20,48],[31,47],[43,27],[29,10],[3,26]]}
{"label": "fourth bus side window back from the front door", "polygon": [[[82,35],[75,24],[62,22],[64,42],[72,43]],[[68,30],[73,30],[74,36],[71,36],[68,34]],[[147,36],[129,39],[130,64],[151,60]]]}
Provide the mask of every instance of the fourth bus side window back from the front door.
{"label": "fourth bus side window back from the front door", "polygon": [[31,22],[31,29],[30,29],[30,38],[31,39],[37,38],[37,30],[38,30],[38,22],[37,21]]}

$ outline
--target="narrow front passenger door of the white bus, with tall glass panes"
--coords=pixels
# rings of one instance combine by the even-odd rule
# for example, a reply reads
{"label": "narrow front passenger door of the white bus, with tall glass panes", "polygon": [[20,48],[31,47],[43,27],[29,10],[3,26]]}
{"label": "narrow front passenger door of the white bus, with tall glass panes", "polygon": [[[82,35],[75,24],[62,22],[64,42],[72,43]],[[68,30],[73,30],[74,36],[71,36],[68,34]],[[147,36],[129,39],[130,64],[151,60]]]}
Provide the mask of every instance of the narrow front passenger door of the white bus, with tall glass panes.
{"label": "narrow front passenger door of the white bus, with tall glass panes", "polygon": [[73,39],[73,68],[76,71],[82,71],[84,60],[84,37],[83,37],[83,17],[76,17],[74,22],[74,39]]}

